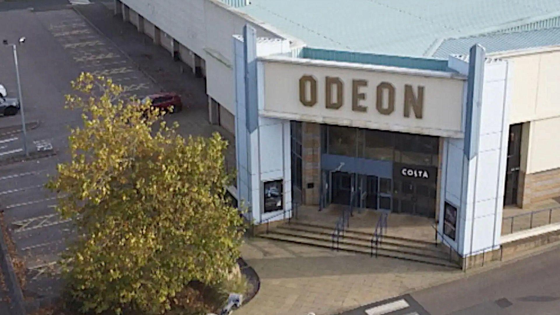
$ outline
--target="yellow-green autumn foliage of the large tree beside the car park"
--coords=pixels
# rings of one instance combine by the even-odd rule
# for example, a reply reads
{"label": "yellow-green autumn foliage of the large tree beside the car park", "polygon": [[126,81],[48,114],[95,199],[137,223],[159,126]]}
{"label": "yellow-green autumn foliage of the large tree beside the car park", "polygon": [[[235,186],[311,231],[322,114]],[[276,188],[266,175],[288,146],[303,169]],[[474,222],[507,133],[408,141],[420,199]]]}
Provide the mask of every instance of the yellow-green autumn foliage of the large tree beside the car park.
{"label": "yellow-green autumn foliage of the large tree beside the car park", "polygon": [[242,236],[225,198],[227,143],[217,133],[181,137],[110,79],[82,73],[72,87],[86,95],[66,98],[83,110],[83,127],[71,130],[71,161],[47,184],[76,223],[61,262],[72,300],[82,312],[163,313],[190,281],[225,279]]}

